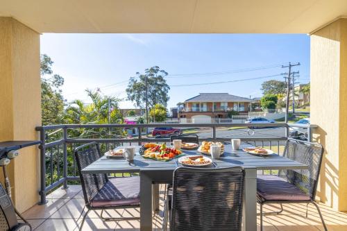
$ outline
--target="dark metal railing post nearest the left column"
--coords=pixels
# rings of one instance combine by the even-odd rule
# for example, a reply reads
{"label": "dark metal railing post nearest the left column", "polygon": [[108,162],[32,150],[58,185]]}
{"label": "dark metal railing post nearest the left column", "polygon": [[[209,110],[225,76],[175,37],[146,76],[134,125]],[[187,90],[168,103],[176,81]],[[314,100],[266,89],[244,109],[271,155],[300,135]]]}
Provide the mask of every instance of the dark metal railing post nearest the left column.
{"label": "dark metal railing post nearest the left column", "polygon": [[40,129],[40,202],[39,205],[44,205],[47,203],[46,200],[46,134],[44,128]]}

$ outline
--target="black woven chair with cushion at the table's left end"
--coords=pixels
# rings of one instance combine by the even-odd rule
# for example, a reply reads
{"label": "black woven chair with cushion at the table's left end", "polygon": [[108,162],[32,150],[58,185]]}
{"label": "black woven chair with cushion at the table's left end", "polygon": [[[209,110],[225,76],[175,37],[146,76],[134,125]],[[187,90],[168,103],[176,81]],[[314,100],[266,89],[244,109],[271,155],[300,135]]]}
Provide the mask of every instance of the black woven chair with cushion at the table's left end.
{"label": "black woven chair with cushion at the table's left end", "polygon": [[[75,149],[75,157],[80,174],[83,197],[87,212],[83,216],[80,230],[90,210],[102,210],[101,219],[130,220],[139,217],[105,218],[104,209],[139,207],[139,177],[108,178],[106,174],[81,173],[81,170],[101,157],[99,144],[92,142]],[[84,210],[84,209],[83,209]],[[82,211],[83,213],[83,211]]]}

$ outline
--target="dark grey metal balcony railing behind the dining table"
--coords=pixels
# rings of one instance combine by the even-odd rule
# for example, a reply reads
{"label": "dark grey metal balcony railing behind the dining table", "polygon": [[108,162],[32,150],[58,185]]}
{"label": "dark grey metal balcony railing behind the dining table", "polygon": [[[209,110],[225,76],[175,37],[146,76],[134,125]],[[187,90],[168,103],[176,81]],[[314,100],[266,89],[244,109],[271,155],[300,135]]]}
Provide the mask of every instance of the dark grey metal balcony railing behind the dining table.
{"label": "dark grey metal balcony railing behind the dining table", "polygon": [[[242,142],[254,146],[277,148],[281,153],[281,146],[285,144],[289,135],[289,127],[307,128],[308,140],[311,140],[313,125],[297,125],[289,123],[262,123],[257,124],[256,130],[248,128],[245,123],[156,123],[156,124],[64,124],[54,126],[39,126],[35,128],[40,132],[40,204],[46,203],[46,194],[67,183],[77,183],[79,180],[74,158],[74,148],[88,142],[98,142],[101,151],[124,144],[138,144],[143,142],[170,142],[169,135],[151,137],[146,135],[151,128],[174,127],[183,129],[183,133],[192,133],[192,130],[201,130],[199,139],[230,142],[231,138],[242,139]],[[252,125],[254,127],[254,124]],[[271,128],[283,129],[283,135],[267,135],[262,137],[264,130]],[[126,130],[137,130],[135,137],[129,137]],[[232,135],[226,135],[233,130]],[[271,131],[271,130],[270,130]],[[271,132],[270,132],[271,133]],[[256,137],[255,134],[260,135]],[[276,151],[276,150],[275,150]],[[272,173],[272,171],[271,171]]]}

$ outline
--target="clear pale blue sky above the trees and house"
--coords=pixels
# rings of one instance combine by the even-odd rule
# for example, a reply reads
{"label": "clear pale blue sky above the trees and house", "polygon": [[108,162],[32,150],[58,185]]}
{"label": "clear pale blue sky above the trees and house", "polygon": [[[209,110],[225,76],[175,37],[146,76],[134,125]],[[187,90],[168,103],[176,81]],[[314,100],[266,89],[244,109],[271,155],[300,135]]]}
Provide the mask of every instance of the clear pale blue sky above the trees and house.
{"label": "clear pale blue sky above the trees and house", "polygon": [[[100,87],[102,94],[125,99],[126,80],[137,71],[143,72],[155,65],[169,73],[167,83],[172,87],[168,107],[200,92],[261,96],[263,81],[283,80],[283,77],[192,84],[244,80],[287,71],[280,67],[234,70],[301,62],[301,66],[294,68],[300,71],[298,82],[310,81],[308,35],[48,33],[41,36],[41,53],[52,58],[53,71],[65,78],[62,89],[67,101],[82,99],[85,103],[90,103],[84,91],[87,88]],[[223,71],[226,73],[220,73]],[[175,86],[185,84],[190,86]],[[134,105],[124,100],[121,108],[134,108]]]}

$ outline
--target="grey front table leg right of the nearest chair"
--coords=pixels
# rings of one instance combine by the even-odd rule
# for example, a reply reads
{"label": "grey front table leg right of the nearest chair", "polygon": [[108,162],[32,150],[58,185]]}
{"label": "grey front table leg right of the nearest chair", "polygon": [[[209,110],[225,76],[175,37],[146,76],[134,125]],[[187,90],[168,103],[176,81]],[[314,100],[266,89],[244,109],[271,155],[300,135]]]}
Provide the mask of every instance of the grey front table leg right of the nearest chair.
{"label": "grey front table leg right of the nearest chair", "polygon": [[257,230],[257,169],[245,169],[243,231]]}

